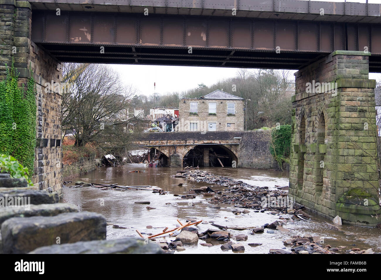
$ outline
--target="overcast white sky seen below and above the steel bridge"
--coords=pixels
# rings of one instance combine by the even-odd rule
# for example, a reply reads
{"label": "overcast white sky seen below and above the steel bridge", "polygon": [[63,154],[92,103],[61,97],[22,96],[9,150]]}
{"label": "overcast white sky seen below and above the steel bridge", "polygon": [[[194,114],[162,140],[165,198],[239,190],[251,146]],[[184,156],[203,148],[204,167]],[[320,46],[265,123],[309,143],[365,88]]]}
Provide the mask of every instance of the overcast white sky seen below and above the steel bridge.
{"label": "overcast white sky seen below and above the steel bridge", "polygon": [[[344,0],[320,0],[325,2],[344,2]],[[346,2],[365,3],[365,0],[347,0]],[[379,4],[381,0],[369,0]],[[117,70],[126,84],[132,84],[142,94],[154,92],[184,91],[200,83],[207,86],[224,78],[235,76],[237,68],[191,67],[191,66],[147,66],[147,65],[110,65]],[[370,74],[369,78],[379,80],[381,74]],[[154,91],[154,83],[156,89]]]}

